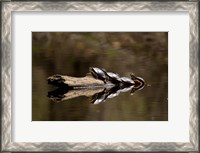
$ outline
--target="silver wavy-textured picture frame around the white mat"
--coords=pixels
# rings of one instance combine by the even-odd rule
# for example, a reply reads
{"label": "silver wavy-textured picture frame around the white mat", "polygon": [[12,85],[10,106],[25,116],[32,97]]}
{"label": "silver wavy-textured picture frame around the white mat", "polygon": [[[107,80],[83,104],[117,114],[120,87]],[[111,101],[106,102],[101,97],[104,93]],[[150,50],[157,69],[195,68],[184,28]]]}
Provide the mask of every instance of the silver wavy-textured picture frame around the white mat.
{"label": "silver wavy-textured picture frame around the white mat", "polygon": [[[2,5],[1,150],[2,151],[199,151],[199,2],[12,2]],[[189,14],[189,142],[13,142],[12,14],[29,11],[174,11]]]}

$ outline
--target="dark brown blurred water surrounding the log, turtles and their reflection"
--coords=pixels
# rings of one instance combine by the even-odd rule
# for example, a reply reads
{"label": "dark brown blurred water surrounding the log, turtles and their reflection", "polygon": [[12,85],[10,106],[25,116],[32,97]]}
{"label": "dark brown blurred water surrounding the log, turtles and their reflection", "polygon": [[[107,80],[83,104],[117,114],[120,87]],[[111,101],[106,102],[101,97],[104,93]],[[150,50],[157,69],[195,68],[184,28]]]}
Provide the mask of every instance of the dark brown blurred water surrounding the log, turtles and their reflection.
{"label": "dark brown blurred water surrounding the log, turtles and their reflection", "polygon": [[[133,95],[121,93],[94,105],[87,97],[55,103],[47,95],[54,74],[82,77],[101,67],[147,84]],[[33,32],[33,121],[167,121],[168,33],[166,32]]]}

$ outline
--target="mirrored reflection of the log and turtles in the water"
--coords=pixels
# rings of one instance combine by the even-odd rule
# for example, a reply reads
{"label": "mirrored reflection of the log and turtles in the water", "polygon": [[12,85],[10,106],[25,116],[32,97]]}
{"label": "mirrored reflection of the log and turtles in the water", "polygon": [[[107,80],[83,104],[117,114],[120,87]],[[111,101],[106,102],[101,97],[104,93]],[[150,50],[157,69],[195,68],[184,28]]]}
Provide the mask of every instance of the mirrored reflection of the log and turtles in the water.
{"label": "mirrored reflection of the log and turtles in the water", "polygon": [[107,86],[107,88],[89,88],[89,89],[69,89],[68,87],[60,87],[56,90],[48,92],[48,97],[54,102],[60,102],[80,96],[89,97],[89,101],[92,104],[99,104],[105,102],[106,99],[114,98],[121,92],[128,92],[131,90],[132,95],[135,91],[141,90],[143,86],[135,87],[132,86]]}

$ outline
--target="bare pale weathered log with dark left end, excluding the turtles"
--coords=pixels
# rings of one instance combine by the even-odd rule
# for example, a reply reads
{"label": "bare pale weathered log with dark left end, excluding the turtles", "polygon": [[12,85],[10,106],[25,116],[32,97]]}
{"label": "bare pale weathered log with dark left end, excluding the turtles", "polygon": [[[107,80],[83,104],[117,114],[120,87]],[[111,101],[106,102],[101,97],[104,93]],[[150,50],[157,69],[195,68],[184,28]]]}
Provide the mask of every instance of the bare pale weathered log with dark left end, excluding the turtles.
{"label": "bare pale weathered log with dark left end, excluding the turtles", "polygon": [[57,87],[95,87],[105,85],[102,80],[95,79],[90,75],[85,77],[71,77],[56,74],[48,77],[48,83]]}

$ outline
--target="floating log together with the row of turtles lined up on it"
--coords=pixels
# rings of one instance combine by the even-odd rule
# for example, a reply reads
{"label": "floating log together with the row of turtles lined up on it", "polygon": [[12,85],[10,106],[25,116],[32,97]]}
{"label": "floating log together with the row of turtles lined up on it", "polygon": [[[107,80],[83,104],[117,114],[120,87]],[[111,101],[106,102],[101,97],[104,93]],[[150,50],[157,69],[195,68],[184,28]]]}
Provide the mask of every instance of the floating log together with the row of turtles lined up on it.
{"label": "floating log together with the row of turtles lined up on it", "polygon": [[140,88],[145,85],[144,80],[140,77],[130,74],[131,78],[120,77],[116,73],[107,72],[105,69],[96,67],[89,68],[89,73],[85,77],[71,77],[64,75],[53,75],[48,78],[48,83],[57,87],[68,87],[71,89],[79,88],[96,88],[120,86],[135,86]]}

